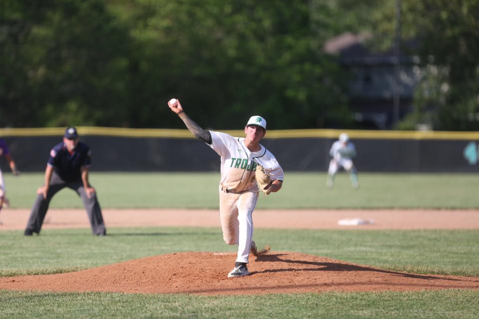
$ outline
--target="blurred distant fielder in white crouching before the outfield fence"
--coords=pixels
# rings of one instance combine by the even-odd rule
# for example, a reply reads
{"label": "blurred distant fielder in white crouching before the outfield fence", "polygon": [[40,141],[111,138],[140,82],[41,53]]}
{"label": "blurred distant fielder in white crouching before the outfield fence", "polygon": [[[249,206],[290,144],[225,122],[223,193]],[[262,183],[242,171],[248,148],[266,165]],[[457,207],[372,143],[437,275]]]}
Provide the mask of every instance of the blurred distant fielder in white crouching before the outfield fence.
{"label": "blurred distant fielder in white crouching before the outfield fence", "polygon": [[333,143],[329,155],[331,160],[329,161],[327,186],[333,187],[334,176],[338,169],[343,167],[349,172],[353,187],[359,187],[358,174],[353,163],[353,159],[356,157],[356,148],[346,133],[339,135],[339,140]]}

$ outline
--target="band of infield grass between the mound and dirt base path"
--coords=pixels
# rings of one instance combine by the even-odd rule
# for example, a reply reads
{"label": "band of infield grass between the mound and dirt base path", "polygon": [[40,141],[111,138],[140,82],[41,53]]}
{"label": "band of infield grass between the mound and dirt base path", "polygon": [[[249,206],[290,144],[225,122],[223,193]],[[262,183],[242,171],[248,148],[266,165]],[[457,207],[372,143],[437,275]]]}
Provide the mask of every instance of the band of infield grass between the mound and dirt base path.
{"label": "band of infield grass between the mound and dirt base path", "polygon": [[[109,228],[98,238],[89,229],[44,229],[40,236],[0,233],[0,276],[87,269],[180,251],[236,251],[216,228]],[[383,269],[479,277],[476,230],[257,229],[259,245],[276,251],[327,256]]]}

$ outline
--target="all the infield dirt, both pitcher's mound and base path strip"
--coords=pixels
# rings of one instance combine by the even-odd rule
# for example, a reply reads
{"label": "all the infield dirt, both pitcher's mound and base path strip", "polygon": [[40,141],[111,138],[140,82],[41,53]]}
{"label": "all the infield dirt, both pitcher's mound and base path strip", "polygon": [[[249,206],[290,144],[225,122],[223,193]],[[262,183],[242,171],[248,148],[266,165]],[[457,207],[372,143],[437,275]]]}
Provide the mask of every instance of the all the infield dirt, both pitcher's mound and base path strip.
{"label": "all the infield dirt, both pitcher's mound and base path strip", "polygon": [[[4,224],[0,229],[24,227],[28,211],[5,212],[2,212]],[[135,218],[132,219],[131,214],[135,214]],[[166,218],[168,216],[171,218]],[[48,217],[44,228],[89,227],[86,213],[82,210],[52,210],[48,212]],[[107,210],[104,217],[107,226],[116,227],[219,227],[217,211],[208,210]],[[378,222],[356,227],[338,226],[336,223],[340,218],[353,217],[376,218]],[[253,218],[256,227],[271,228],[479,228],[478,211],[258,211]],[[202,295],[479,289],[479,278],[475,277],[388,271],[326,257],[277,252],[274,247],[268,255],[250,256],[249,276],[229,279],[227,274],[235,259],[236,254],[221,252],[167,254],[65,274],[0,277],[0,289]]]}

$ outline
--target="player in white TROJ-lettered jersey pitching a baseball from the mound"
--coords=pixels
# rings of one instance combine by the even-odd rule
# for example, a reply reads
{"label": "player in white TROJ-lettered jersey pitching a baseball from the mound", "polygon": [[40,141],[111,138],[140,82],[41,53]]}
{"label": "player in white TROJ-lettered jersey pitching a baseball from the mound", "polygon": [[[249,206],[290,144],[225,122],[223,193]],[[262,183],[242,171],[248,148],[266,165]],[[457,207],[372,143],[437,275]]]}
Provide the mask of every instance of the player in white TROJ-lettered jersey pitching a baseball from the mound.
{"label": "player in white TROJ-lettered jersey pitching a baseball from the mound", "polygon": [[[206,142],[221,156],[220,220],[223,239],[228,245],[238,245],[235,267],[228,277],[249,274],[246,264],[249,253],[256,255],[252,213],[258,200],[258,187],[254,170],[257,164],[264,166],[272,181],[271,192],[277,192],[283,182],[283,170],[274,156],[259,141],[266,135],[266,121],[253,116],[244,127],[245,138],[206,131],[193,122],[184,112],[178,100],[168,102],[170,109],[185,123],[193,135]],[[268,188],[269,189],[269,188]]]}

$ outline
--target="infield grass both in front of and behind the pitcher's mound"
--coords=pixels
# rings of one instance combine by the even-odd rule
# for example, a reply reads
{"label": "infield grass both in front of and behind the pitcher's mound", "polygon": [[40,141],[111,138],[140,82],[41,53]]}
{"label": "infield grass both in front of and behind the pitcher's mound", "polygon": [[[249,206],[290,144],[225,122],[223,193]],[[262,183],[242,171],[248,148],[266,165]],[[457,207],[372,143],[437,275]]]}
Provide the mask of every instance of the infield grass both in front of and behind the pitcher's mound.
{"label": "infield grass both in front of and behind the pitcher's mound", "polygon": [[[0,232],[0,275],[75,271],[178,251],[234,251],[219,228],[45,229]],[[258,243],[384,269],[479,276],[475,230],[260,229]],[[199,270],[201,271],[201,270]],[[138,295],[0,291],[0,318],[477,318],[479,291],[266,296]]]}

